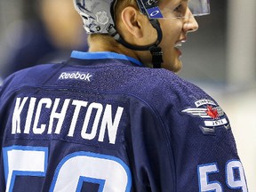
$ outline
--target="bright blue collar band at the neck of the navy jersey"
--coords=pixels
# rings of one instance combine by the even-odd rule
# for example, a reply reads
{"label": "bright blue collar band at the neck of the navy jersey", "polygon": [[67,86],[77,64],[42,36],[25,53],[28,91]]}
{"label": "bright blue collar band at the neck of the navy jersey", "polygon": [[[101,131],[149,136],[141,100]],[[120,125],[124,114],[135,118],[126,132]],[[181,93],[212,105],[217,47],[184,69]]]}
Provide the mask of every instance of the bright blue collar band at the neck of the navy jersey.
{"label": "bright blue collar band at the neck of the navy jersey", "polygon": [[117,59],[117,60],[130,60],[133,63],[143,67],[143,64],[139,60],[135,60],[132,57],[128,57],[124,54],[118,54],[116,52],[78,52],[73,51],[71,58],[82,60],[104,60],[104,59]]}

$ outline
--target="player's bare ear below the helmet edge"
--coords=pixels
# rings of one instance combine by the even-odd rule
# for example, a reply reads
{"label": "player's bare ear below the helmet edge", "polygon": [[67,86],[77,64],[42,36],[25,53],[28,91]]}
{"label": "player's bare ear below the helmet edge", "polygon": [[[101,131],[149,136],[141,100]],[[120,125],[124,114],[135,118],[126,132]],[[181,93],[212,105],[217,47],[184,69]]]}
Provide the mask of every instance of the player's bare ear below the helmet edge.
{"label": "player's bare ear below the helmet edge", "polygon": [[141,38],[143,36],[141,14],[132,6],[127,6],[121,13],[124,28],[133,36]]}

